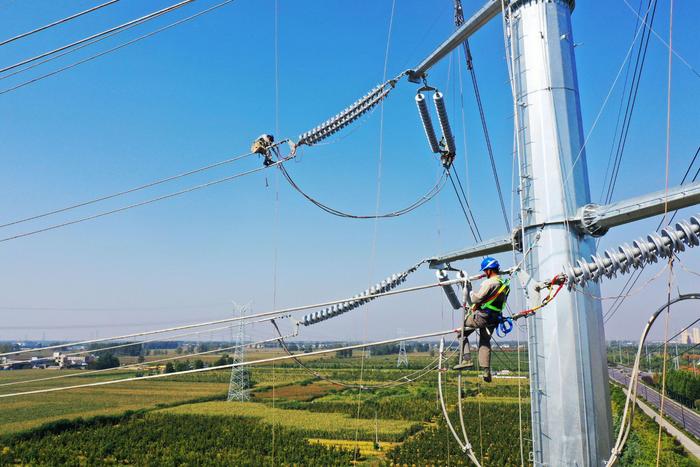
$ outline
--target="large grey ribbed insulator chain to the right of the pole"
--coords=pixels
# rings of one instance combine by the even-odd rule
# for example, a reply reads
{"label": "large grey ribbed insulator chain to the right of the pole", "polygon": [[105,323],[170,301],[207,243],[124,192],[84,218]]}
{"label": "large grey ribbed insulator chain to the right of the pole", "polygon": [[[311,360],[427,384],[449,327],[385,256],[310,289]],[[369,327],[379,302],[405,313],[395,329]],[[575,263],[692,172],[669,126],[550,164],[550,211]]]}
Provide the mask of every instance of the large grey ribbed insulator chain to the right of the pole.
{"label": "large grey ribbed insulator chain to the right of the pole", "polygon": [[602,276],[612,278],[618,272],[625,274],[631,269],[639,269],[648,263],[655,263],[659,258],[669,258],[676,252],[684,251],[700,244],[700,215],[693,216],[689,220],[682,220],[674,228],[667,227],[661,233],[652,233],[646,240],[640,238],[628,244],[618,247],[618,251],[607,250],[600,255],[591,256],[591,261],[582,259],[576,262],[577,266],[566,266],[564,274],[567,276],[567,285],[571,289],[574,285],[585,285],[586,282],[598,281]]}

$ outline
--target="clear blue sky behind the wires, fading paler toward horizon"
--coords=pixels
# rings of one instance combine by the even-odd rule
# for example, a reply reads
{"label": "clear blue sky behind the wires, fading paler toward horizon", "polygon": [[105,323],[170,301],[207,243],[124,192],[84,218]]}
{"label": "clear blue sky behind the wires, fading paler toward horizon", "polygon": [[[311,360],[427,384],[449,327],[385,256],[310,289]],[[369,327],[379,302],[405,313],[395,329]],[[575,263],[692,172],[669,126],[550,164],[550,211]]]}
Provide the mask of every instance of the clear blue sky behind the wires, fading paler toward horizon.
{"label": "clear blue sky behind the wires, fading paler toward horizon", "polygon": [[[96,3],[0,0],[0,31],[3,38],[10,37]],[[0,63],[10,65],[170,3],[121,0],[0,47]],[[31,71],[0,77],[0,91],[215,3],[198,0]],[[675,4],[674,48],[697,69],[697,7],[690,1]],[[449,35],[454,28],[451,5],[449,0],[396,2],[389,75],[415,65]],[[264,132],[296,138],[381,82],[391,6],[389,0],[279,0],[278,106],[275,3],[271,0],[237,0],[192,22],[0,95],[0,223],[247,152],[251,141]],[[478,6],[480,2],[465,1],[465,15]],[[636,8],[637,2],[632,6]],[[668,0],[659,1],[654,29],[664,38],[668,37],[668,9]],[[635,17],[624,0],[579,1],[572,21],[588,132],[630,46]],[[480,30],[471,44],[510,211],[513,119],[500,20]],[[459,53],[436,66],[430,78],[445,92],[460,149],[455,166],[466,181],[481,233],[487,238],[503,234],[505,228],[495,198],[487,196],[493,184],[491,171],[471,83]],[[666,62],[667,48],[652,37],[614,200],[664,187]],[[587,146],[594,201],[600,201],[604,186],[623,78],[624,73]],[[674,60],[672,83],[670,180],[676,185],[700,144],[700,79]],[[384,107],[380,210],[410,204],[439,174],[418,121],[414,94],[415,86],[403,81]],[[380,112],[340,136],[333,144],[305,149],[288,169],[304,189],[333,207],[371,214],[378,186]],[[5,237],[41,228],[255,168],[259,163],[244,160],[0,230]],[[696,163],[695,168],[698,166]],[[680,216],[694,212],[686,210]],[[604,237],[600,247],[646,235],[657,222],[652,219],[620,227]],[[254,312],[262,312],[275,302],[285,307],[341,298],[422,258],[472,242],[449,186],[406,216],[378,222],[350,220],[320,211],[273,171],[265,171],[176,199],[0,243],[0,339],[108,336],[225,318],[231,314],[231,301],[252,302]],[[501,259],[506,265],[512,262],[510,255]],[[686,267],[700,270],[700,249],[683,253],[681,259]],[[473,271],[477,263],[462,265]],[[648,268],[644,277],[656,274],[659,267]],[[697,284],[697,277],[680,268],[677,276],[682,291],[691,291]],[[409,284],[433,280],[434,272],[423,269]],[[617,294],[624,280],[626,277],[606,282],[603,293]],[[648,315],[664,302],[665,281],[663,276],[630,297],[607,325],[607,337],[636,338]],[[606,302],[604,308],[608,305]],[[697,316],[697,305],[685,309]],[[676,316],[672,328],[681,327],[689,316]],[[394,337],[398,328],[418,334],[453,322],[441,292],[432,290],[377,301],[362,311],[303,329],[301,338]],[[262,326],[256,332],[269,335]]]}

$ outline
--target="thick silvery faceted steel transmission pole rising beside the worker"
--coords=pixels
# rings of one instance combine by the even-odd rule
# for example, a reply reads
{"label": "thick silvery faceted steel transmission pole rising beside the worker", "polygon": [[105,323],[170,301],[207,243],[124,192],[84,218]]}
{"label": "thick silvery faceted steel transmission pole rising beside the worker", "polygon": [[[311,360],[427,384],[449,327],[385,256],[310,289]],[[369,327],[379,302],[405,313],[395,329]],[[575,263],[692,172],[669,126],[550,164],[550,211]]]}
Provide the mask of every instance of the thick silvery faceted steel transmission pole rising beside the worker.
{"label": "thick silvery faceted steel transmission pole rising beside the worker", "polygon": [[[590,203],[571,33],[573,0],[513,2],[508,15],[528,273],[554,277],[595,253],[564,222]],[[539,235],[539,240],[536,236]],[[596,284],[587,287],[599,296]],[[540,300],[540,297],[531,299]],[[535,465],[601,465],[611,417],[600,302],[563,290],[528,326]]]}

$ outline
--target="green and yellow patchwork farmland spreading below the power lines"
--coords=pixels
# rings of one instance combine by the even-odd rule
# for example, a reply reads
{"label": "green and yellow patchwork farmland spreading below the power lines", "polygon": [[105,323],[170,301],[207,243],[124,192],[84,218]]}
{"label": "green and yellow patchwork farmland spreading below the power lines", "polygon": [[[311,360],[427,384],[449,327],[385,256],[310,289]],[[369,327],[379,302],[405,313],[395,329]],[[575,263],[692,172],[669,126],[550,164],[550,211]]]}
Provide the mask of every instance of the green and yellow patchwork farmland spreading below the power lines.
{"label": "green and yellow patchwork farmland spreading below the power lines", "polygon": [[[517,363],[513,355],[502,353],[502,358]],[[419,370],[433,360],[419,355],[411,358],[410,368],[397,369],[395,356],[368,358],[362,391],[316,378],[296,365],[256,367],[250,374],[250,402],[224,400],[228,371],[10,398],[1,402],[0,465],[467,465],[443,420],[436,373],[403,384],[402,376],[423,374]],[[324,377],[360,382],[356,358],[308,363]],[[2,372],[0,393],[134,374],[117,370],[2,386],[57,373]],[[529,465],[528,381],[512,376],[486,384],[476,373],[464,373],[465,429],[483,465],[519,465],[521,452]],[[444,377],[445,401],[459,431],[456,374],[448,371]],[[617,399],[614,409],[619,410]],[[640,460],[655,448],[655,425],[638,414],[635,428],[632,445],[640,447],[626,454],[622,465],[646,465]],[[84,446],[90,440],[106,442],[95,441],[99,448],[88,452]],[[700,465],[666,435],[664,443],[664,465]],[[61,449],[54,452],[52,446]]]}

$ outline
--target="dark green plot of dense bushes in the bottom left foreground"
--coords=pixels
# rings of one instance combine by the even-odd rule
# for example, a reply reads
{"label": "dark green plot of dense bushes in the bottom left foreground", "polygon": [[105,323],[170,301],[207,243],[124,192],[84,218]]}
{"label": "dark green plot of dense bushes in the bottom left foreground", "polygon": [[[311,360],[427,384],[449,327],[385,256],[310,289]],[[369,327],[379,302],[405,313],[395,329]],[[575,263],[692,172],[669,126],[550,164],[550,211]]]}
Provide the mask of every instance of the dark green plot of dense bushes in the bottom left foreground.
{"label": "dark green plot of dense bushes in the bottom left foreground", "polygon": [[[353,453],[311,444],[254,418],[165,413],[55,422],[0,439],[0,465],[348,465]],[[216,434],[212,436],[212,434]]]}

